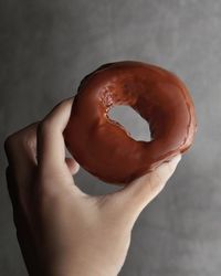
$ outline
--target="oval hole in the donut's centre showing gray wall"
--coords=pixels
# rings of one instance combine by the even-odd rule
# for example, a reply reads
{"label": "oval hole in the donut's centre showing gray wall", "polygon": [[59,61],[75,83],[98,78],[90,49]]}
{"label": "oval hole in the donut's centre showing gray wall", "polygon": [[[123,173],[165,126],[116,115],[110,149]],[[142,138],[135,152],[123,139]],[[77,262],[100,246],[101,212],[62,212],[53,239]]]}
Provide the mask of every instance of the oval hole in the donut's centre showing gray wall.
{"label": "oval hole in the donut's centre showing gray wall", "polygon": [[150,141],[149,125],[130,106],[113,106],[108,112],[108,117],[119,123],[135,140]]}

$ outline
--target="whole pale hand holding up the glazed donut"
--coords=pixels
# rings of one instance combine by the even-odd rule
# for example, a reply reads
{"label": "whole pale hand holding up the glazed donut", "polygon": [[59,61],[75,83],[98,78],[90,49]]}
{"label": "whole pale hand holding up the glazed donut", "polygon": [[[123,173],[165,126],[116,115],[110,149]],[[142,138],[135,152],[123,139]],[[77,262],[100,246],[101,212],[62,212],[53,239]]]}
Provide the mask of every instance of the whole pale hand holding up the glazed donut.
{"label": "whole pale hand holding up the glazed donut", "polygon": [[31,276],[116,276],[137,217],[164,189],[181,157],[117,192],[85,194],[73,178],[77,162],[65,157],[63,130],[72,103],[73,98],[63,100],[44,119],[6,140],[19,244]]}

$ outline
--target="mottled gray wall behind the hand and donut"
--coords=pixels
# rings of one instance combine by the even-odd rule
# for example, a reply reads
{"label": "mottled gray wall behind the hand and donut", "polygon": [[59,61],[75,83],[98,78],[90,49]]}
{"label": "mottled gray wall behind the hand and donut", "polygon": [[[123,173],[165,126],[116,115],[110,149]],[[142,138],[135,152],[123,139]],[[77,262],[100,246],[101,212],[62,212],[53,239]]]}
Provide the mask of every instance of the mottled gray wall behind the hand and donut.
{"label": "mottled gray wall behind the hand and donut", "polygon": [[[220,275],[221,1],[1,0],[0,19],[1,145],[106,62],[155,63],[187,83],[199,120],[196,144],[141,213],[120,275]],[[146,131],[128,110],[120,114],[138,136]],[[0,275],[27,275],[0,156]],[[83,170],[76,182],[93,194],[112,189]]]}

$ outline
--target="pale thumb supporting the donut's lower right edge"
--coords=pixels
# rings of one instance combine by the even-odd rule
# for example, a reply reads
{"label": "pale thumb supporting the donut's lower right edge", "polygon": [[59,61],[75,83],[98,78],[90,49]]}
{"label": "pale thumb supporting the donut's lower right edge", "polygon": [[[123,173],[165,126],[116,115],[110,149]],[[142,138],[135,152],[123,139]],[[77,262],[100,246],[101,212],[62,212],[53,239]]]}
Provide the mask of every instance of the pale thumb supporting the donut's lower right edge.
{"label": "pale thumb supporting the donut's lower right edge", "polygon": [[176,156],[152,172],[134,180],[120,191],[113,193],[110,198],[119,216],[134,225],[143,209],[164,189],[180,159],[181,155]]}

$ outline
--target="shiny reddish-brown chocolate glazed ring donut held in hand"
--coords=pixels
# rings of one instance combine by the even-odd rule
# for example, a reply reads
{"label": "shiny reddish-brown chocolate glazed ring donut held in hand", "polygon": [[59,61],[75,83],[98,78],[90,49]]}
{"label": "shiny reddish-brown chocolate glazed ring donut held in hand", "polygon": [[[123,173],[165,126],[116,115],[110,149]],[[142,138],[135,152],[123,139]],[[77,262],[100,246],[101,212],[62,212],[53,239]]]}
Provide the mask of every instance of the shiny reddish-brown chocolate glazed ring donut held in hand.
{"label": "shiny reddish-brown chocolate glazed ring donut held in hand", "polygon": [[[134,108],[149,124],[151,140],[134,140],[112,120],[114,105]],[[125,184],[185,152],[194,132],[193,103],[185,84],[158,66],[125,61],[105,64],[83,78],[64,139],[84,169]]]}

